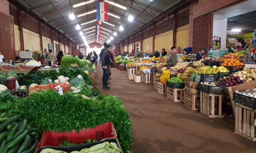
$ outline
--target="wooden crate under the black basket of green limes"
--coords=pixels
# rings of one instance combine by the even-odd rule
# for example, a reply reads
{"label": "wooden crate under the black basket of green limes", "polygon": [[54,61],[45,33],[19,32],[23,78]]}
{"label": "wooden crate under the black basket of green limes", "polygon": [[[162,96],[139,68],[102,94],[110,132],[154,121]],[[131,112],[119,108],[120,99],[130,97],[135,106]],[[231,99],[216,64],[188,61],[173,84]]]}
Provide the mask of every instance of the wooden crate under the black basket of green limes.
{"label": "wooden crate under the black basket of green limes", "polygon": [[172,102],[183,102],[183,89],[167,87],[167,99],[172,100]]}

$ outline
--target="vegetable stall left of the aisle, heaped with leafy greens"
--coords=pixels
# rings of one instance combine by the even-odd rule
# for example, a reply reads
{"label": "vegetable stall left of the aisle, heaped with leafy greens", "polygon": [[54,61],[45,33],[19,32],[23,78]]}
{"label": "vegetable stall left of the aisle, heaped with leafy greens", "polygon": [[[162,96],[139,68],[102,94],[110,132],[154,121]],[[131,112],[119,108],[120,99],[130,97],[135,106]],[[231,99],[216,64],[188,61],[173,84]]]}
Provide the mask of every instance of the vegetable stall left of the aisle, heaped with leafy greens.
{"label": "vegetable stall left of the aisle, heaped with leafy greens", "polygon": [[[131,152],[122,100],[93,87],[89,62],[65,55],[62,64],[59,71],[0,74],[0,153]],[[17,80],[14,89],[9,78]]]}

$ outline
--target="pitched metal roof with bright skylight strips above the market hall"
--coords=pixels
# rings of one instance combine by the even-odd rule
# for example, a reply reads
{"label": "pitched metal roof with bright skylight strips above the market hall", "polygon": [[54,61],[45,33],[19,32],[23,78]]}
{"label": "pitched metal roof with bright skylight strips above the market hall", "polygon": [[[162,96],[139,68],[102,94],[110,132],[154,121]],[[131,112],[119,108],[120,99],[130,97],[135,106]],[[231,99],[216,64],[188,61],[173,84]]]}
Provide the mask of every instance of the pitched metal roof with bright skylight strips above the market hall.
{"label": "pitched metal roof with bright skylight strips above the market hall", "polygon": [[[36,17],[44,20],[46,25],[54,27],[78,45],[85,45],[85,42],[103,44],[109,39],[112,40],[110,44],[114,44],[147,28],[162,17],[167,17],[175,8],[191,2],[191,0],[101,0],[108,2],[109,20],[102,23],[102,34],[98,41],[95,34],[96,1],[17,0],[28,12],[32,12]],[[74,20],[69,18],[72,13]],[[132,22],[128,21],[130,14],[134,17]],[[81,29],[77,30],[77,25]],[[120,26],[123,26],[123,31],[119,30]],[[83,36],[86,41],[82,39]]]}

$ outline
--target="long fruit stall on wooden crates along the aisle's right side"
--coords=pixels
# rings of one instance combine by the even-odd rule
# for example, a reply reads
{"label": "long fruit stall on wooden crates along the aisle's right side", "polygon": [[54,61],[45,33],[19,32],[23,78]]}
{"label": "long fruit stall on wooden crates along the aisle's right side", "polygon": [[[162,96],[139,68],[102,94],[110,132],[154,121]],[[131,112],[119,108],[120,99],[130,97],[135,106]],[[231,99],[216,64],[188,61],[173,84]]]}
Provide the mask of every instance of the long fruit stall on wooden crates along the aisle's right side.
{"label": "long fruit stall on wooden crates along the aisle's right side", "polygon": [[168,67],[167,56],[135,59],[127,65],[140,65],[140,69],[128,73],[128,77],[133,75],[137,82],[135,78],[140,76],[141,82],[153,83],[154,90],[171,102],[182,102],[208,118],[223,118],[225,107],[235,114],[235,133],[256,141],[256,49],[236,53],[228,49],[209,51],[208,56],[198,61],[193,56],[177,56],[174,67]]}

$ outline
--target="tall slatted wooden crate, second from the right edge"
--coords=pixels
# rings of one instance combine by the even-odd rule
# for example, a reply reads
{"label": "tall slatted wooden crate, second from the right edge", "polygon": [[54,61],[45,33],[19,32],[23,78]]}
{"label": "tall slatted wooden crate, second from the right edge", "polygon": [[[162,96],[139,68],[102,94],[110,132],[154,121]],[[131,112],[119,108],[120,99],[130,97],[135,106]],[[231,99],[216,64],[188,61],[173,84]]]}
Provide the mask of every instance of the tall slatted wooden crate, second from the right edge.
{"label": "tall slatted wooden crate, second from the right edge", "polygon": [[[215,115],[215,98],[218,97],[218,115]],[[222,111],[222,94],[207,94],[200,92],[200,112],[209,118],[223,118]]]}

